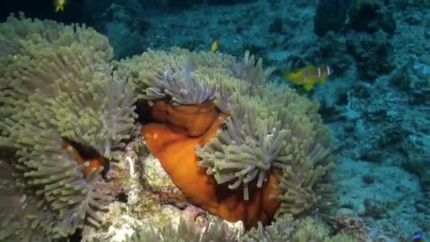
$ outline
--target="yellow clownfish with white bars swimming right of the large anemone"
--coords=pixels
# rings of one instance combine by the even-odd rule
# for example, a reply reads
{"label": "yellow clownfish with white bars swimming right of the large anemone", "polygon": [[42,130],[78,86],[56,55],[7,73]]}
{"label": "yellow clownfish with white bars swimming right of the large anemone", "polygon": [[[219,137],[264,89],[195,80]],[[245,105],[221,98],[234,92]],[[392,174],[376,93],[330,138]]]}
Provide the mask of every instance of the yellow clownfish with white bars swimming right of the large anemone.
{"label": "yellow clownfish with white bars swimming right of the large anemone", "polygon": [[303,85],[306,91],[310,91],[315,83],[324,83],[327,76],[333,73],[333,70],[327,65],[319,67],[303,67],[296,72],[286,71],[285,79],[290,79],[296,84]]}

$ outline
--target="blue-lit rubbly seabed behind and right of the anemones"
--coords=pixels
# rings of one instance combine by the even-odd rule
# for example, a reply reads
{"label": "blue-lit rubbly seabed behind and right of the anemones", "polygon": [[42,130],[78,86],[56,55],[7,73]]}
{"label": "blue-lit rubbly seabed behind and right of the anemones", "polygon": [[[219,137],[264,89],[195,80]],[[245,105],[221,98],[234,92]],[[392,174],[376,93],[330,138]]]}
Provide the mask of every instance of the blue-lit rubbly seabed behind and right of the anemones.
{"label": "blue-lit rubbly seabed behind and right of the anemones", "polygon": [[[332,2],[342,3],[271,0],[162,14],[150,10],[144,15],[150,28],[140,43],[153,50],[177,45],[199,51],[219,40],[221,52],[240,56],[251,50],[264,57],[278,69],[274,81],[286,69],[329,64],[333,75],[306,95],[320,104],[342,151],[332,172],[342,184],[341,205],[354,209],[373,240],[410,238],[415,231],[428,237],[429,163],[422,150],[430,127],[429,1],[350,1],[356,6],[349,9],[355,11],[352,20]],[[342,21],[315,35],[315,23],[328,24],[334,16]],[[364,175],[373,183],[364,184]],[[365,199],[390,208],[373,219],[366,215]]]}

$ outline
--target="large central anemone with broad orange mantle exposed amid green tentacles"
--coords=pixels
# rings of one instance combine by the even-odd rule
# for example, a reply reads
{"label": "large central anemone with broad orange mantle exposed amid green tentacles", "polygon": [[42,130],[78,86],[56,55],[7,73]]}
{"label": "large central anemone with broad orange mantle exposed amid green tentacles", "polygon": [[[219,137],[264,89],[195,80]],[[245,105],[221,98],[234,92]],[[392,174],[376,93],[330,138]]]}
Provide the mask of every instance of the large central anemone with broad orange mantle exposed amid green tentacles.
{"label": "large central anemone with broad orange mantle exposed amid green tentacles", "polygon": [[[141,134],[192,203],[245,226],[267,222],[275,212],[298,215],[330,203],[332,188],[319,182],[332,168],[332,145],[318,106],[267,83],[273,70],[263,70],[261,60],[248,52],[236,62],[174,49],[149,51],[127,65],[151,67],[131,74],[150,105],[150,122],[158,122]],[[213,115],[205,114],[209,103]]]}

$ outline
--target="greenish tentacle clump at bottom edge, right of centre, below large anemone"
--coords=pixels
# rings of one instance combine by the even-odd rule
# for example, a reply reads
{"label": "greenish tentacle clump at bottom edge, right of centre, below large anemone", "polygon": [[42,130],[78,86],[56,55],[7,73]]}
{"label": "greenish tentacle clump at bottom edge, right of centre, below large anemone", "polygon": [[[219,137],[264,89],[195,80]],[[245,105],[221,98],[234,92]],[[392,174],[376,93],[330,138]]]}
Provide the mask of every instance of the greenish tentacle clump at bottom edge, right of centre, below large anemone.
{"label": "greenish tentacle clump at bottom edge, right of centre, below large anemone", "polygon": [[243,241],[267,241],[267,242],[354,242],[356,239],[344,234],[330,236],[330,229],[321,222],[310,217],[294,220],[291,214],[284,214],[269,226],[258,224],[245,234]]}

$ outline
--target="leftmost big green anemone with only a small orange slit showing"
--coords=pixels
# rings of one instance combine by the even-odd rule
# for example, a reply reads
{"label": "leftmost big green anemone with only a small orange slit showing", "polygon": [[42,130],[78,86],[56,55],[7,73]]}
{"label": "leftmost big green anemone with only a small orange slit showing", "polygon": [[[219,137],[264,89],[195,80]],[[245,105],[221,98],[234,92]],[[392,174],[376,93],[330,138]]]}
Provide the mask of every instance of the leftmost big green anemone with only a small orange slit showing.
{"label": "leftmost big green anemone with only a small orange slit showing", "polygon": [[0,39],[1,147],[16,157],[10,183],[35,207],[31,226],[18,227],[62,238],[100,226],[112,200],[99,192],[101,173],[133,133],[134,85],[113,69],[108,40],[85,26],[11,16]]}

